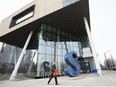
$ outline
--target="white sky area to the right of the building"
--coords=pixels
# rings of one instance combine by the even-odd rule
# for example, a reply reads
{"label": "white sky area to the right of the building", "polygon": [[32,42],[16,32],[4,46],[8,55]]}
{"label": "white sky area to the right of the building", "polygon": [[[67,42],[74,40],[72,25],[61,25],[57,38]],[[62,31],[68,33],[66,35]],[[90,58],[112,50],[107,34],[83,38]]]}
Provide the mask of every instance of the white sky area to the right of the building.
{"label": "white sky area to the right of the building", "polygon": [[89,0],[92,37],[99,59],[116,59],[116,0]]}

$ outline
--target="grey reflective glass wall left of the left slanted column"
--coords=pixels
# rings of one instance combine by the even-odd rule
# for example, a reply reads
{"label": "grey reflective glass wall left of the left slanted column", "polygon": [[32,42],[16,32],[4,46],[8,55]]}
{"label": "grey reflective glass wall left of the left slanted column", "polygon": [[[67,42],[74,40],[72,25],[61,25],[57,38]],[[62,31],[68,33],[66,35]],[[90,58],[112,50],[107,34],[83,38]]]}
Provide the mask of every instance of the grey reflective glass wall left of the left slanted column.
{"label": "grey reflective glass wall left of the left slanted column", "polygon": [[0,56],[0,77],[7,78],[11,75],[21,50],[15,46],[4,45]]}

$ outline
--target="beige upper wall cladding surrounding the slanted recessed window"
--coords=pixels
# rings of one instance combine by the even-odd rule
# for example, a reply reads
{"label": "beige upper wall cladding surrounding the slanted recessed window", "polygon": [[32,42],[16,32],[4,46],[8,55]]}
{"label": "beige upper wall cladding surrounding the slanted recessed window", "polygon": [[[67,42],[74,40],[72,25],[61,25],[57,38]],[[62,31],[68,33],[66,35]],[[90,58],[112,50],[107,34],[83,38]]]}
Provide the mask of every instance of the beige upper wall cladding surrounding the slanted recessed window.
{"label": "beige upper wall cladding surrounding the slanted recessed window", "polygon": [[[35,5],[35,10],[34,10],[34,16],[9,28],[11,20],[14,16],[17,14],[23,12],[27,8]],[[58,9],[62,8],[62,0],[34,0],[33,2],[27,4],[23,8],[19,9],[9,17],[5,18],[1,24],[0,24],[0,37],[10,33],[24,25],[29,24],[30,22],[33,22],[34,20],[37,20],[47,14],[50,14]]]}

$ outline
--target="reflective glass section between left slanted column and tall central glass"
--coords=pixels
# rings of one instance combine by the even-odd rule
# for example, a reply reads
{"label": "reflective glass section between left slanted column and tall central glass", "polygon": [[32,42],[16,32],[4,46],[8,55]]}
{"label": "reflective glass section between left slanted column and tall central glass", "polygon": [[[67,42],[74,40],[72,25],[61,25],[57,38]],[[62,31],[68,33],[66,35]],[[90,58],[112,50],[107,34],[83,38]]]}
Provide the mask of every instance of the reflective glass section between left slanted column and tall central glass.
{"label": "reflective glass section between left slanted column and tall central glass", "polygon": [[36,75],[37,50],[27,50],[21,66],[23,73],[29,76]]}

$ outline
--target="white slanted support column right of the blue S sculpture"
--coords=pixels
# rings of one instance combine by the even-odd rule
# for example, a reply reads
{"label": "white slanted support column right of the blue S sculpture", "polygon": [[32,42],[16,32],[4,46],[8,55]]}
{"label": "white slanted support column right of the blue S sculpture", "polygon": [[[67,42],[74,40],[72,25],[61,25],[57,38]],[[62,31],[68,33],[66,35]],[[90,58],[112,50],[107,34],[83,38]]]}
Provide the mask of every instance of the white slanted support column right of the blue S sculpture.
{"label": "white slanted support column right of the blue S sculpture", "polygon": [[100,63],[99,63],[99,60],[97,58],[97,54],[96,54],[96,51],[95,51],[95,47],[94,47],[94,44],[93,44],[90,28],[89,28],[86,17],[83,17],[83,20],[84,20],[85,28],[86,28],[87,35],[88,35],[88,38],[89,38],[89,41],[90,41],[91,50],[93,52],[93,57],[94,57],[97,73],[98,73],[98,75],[101,75]]}

